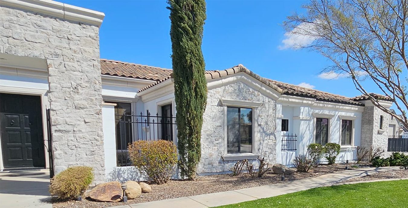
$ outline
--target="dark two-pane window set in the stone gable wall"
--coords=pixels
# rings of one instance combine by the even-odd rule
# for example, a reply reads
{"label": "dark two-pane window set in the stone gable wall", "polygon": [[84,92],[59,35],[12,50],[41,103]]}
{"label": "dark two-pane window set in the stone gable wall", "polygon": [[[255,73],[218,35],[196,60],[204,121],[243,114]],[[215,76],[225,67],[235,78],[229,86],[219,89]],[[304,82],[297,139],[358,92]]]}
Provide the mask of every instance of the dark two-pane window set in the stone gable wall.
{"label": "dark two-pane window set in the stone gable wall", "polygon": [[227,107],[227,153],[251,153],[252,134],[252,108]]}

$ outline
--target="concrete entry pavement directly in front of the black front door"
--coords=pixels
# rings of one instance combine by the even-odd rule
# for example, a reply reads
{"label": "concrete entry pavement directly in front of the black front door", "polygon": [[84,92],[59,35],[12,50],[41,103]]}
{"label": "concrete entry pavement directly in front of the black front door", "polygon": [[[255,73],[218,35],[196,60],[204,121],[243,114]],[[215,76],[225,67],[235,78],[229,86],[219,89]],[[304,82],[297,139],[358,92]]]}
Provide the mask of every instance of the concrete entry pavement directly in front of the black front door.
{"label": "concrete entry pavement directly in front of the black front door", "polygon": [[52,208],[45,202],[51,196],[48,193],[50,184],[49,170],[37,171],[32,175],[0,173],[0,207],[1,208]]}

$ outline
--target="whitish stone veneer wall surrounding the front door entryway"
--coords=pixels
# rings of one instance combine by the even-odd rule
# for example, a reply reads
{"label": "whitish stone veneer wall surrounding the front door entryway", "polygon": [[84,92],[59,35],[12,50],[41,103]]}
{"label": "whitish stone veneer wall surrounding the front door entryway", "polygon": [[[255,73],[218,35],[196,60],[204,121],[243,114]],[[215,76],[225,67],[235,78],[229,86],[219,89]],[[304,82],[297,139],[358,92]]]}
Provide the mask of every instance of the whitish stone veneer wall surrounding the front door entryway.
{"label": "whitish stone veneer wall surrounding the front door entryway", "polygon": [[99,28],[0,9],[0,53],[47,59],[55,172],[86,165],[104,181]]}

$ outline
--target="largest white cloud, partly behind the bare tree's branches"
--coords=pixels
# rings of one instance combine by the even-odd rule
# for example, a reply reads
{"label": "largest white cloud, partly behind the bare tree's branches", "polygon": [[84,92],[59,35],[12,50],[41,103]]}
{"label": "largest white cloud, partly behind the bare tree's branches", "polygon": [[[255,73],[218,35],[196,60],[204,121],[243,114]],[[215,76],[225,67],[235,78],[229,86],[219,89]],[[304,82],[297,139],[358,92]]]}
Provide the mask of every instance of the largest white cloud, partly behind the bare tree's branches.
{"label": "largest white cloud, partly behind the bare tree's branches", "polygon": [[304,46],[310,45],[313,41],[317,39],[317,36],[307,35],[313,34],[312,23],[301,23],[292,31],[285,33],[285,39],[282,40],[282,45],[278,46],[279,50],[284,50],[288,48],[299,49]]}

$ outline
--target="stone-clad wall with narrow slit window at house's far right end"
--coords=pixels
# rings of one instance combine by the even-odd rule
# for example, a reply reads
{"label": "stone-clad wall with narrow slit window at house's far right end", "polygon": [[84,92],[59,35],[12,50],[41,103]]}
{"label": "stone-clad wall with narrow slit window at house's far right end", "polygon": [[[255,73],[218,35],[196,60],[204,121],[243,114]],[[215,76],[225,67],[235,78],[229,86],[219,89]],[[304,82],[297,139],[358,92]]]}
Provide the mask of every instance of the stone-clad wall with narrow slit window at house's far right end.
{"label": "stone-clad wall with narrow slit window at house's far right end", "polygon": [[[383,116],[384,133],[379,132],[380,116]],[[375,106],[366,106],[361,119],[361,147],[370,148],[382,147],[387,150],[388,147],[388,122],[390,116]]]}

